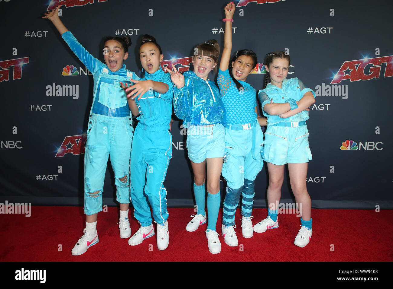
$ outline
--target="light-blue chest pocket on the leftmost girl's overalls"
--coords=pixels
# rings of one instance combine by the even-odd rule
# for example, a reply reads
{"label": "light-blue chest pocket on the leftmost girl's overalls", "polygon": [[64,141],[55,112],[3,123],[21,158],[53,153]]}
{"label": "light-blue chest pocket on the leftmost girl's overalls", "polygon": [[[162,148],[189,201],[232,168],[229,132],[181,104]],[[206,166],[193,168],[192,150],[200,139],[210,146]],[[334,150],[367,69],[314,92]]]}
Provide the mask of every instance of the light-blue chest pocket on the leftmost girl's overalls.
{"label": "light-blue chest pocket on the leftmost girl's overalls", "polygon": [[127,105],[127,97],[118,81],[101,78],[98,102],[110,109],[116,109]]}

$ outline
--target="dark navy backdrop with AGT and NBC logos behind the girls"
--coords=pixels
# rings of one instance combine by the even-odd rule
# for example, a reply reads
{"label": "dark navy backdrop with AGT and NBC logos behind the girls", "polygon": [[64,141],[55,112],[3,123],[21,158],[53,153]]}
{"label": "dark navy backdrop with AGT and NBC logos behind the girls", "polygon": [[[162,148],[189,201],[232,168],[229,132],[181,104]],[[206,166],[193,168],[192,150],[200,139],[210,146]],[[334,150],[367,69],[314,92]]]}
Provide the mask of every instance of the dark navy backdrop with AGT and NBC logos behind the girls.
{"label": "dark navy backdrop with AGT and NBC logos behind the girls", "polygon": [[[161,45],[162,69],[174,64],[179,71],[193,70],[200,42],[214,38],[222,48],[225,4],[0,0],[0,202],[83,205],[93,77],[52,23],[41,18],[46,11],[61,5],[64,25],[101,61],[105,36],[130,36],[125,64],[141,76],[143,34]],[[282,50],[291,56],[288,77],[300,78],[316,92],[307,121],[313,159],[306,182],[313,207],[392,209],[391,1],[238,0],[235,5],[233,54],[252,49],[258,55],[247,81],[261,89],[265,55]],[[211,73],[210,79],[217,75]],[[173,158],[164,183],[168,205],[193,207],[182,121],[174,119],[171,133]],[[256,179],[255,207],[266,207],[267,184],[265,163]],[[116,205],[115,191],[108,164],[104,204]],[[292,199],[286,175],[281,201]]]}

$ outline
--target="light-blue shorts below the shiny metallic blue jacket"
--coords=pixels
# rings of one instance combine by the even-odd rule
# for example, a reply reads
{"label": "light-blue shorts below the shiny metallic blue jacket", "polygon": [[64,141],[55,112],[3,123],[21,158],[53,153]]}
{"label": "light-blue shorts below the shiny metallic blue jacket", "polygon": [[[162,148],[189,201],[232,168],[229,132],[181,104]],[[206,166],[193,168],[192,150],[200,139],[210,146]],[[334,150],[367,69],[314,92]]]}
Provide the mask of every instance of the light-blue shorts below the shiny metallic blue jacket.
{"label": "light-blue shorts below the shiny metallic blue jacket", "polygon": [[187,129],[188,157],[194,163],[206,158],[221,158],[225,151],[225,130],[222,124],[191,125]]}

